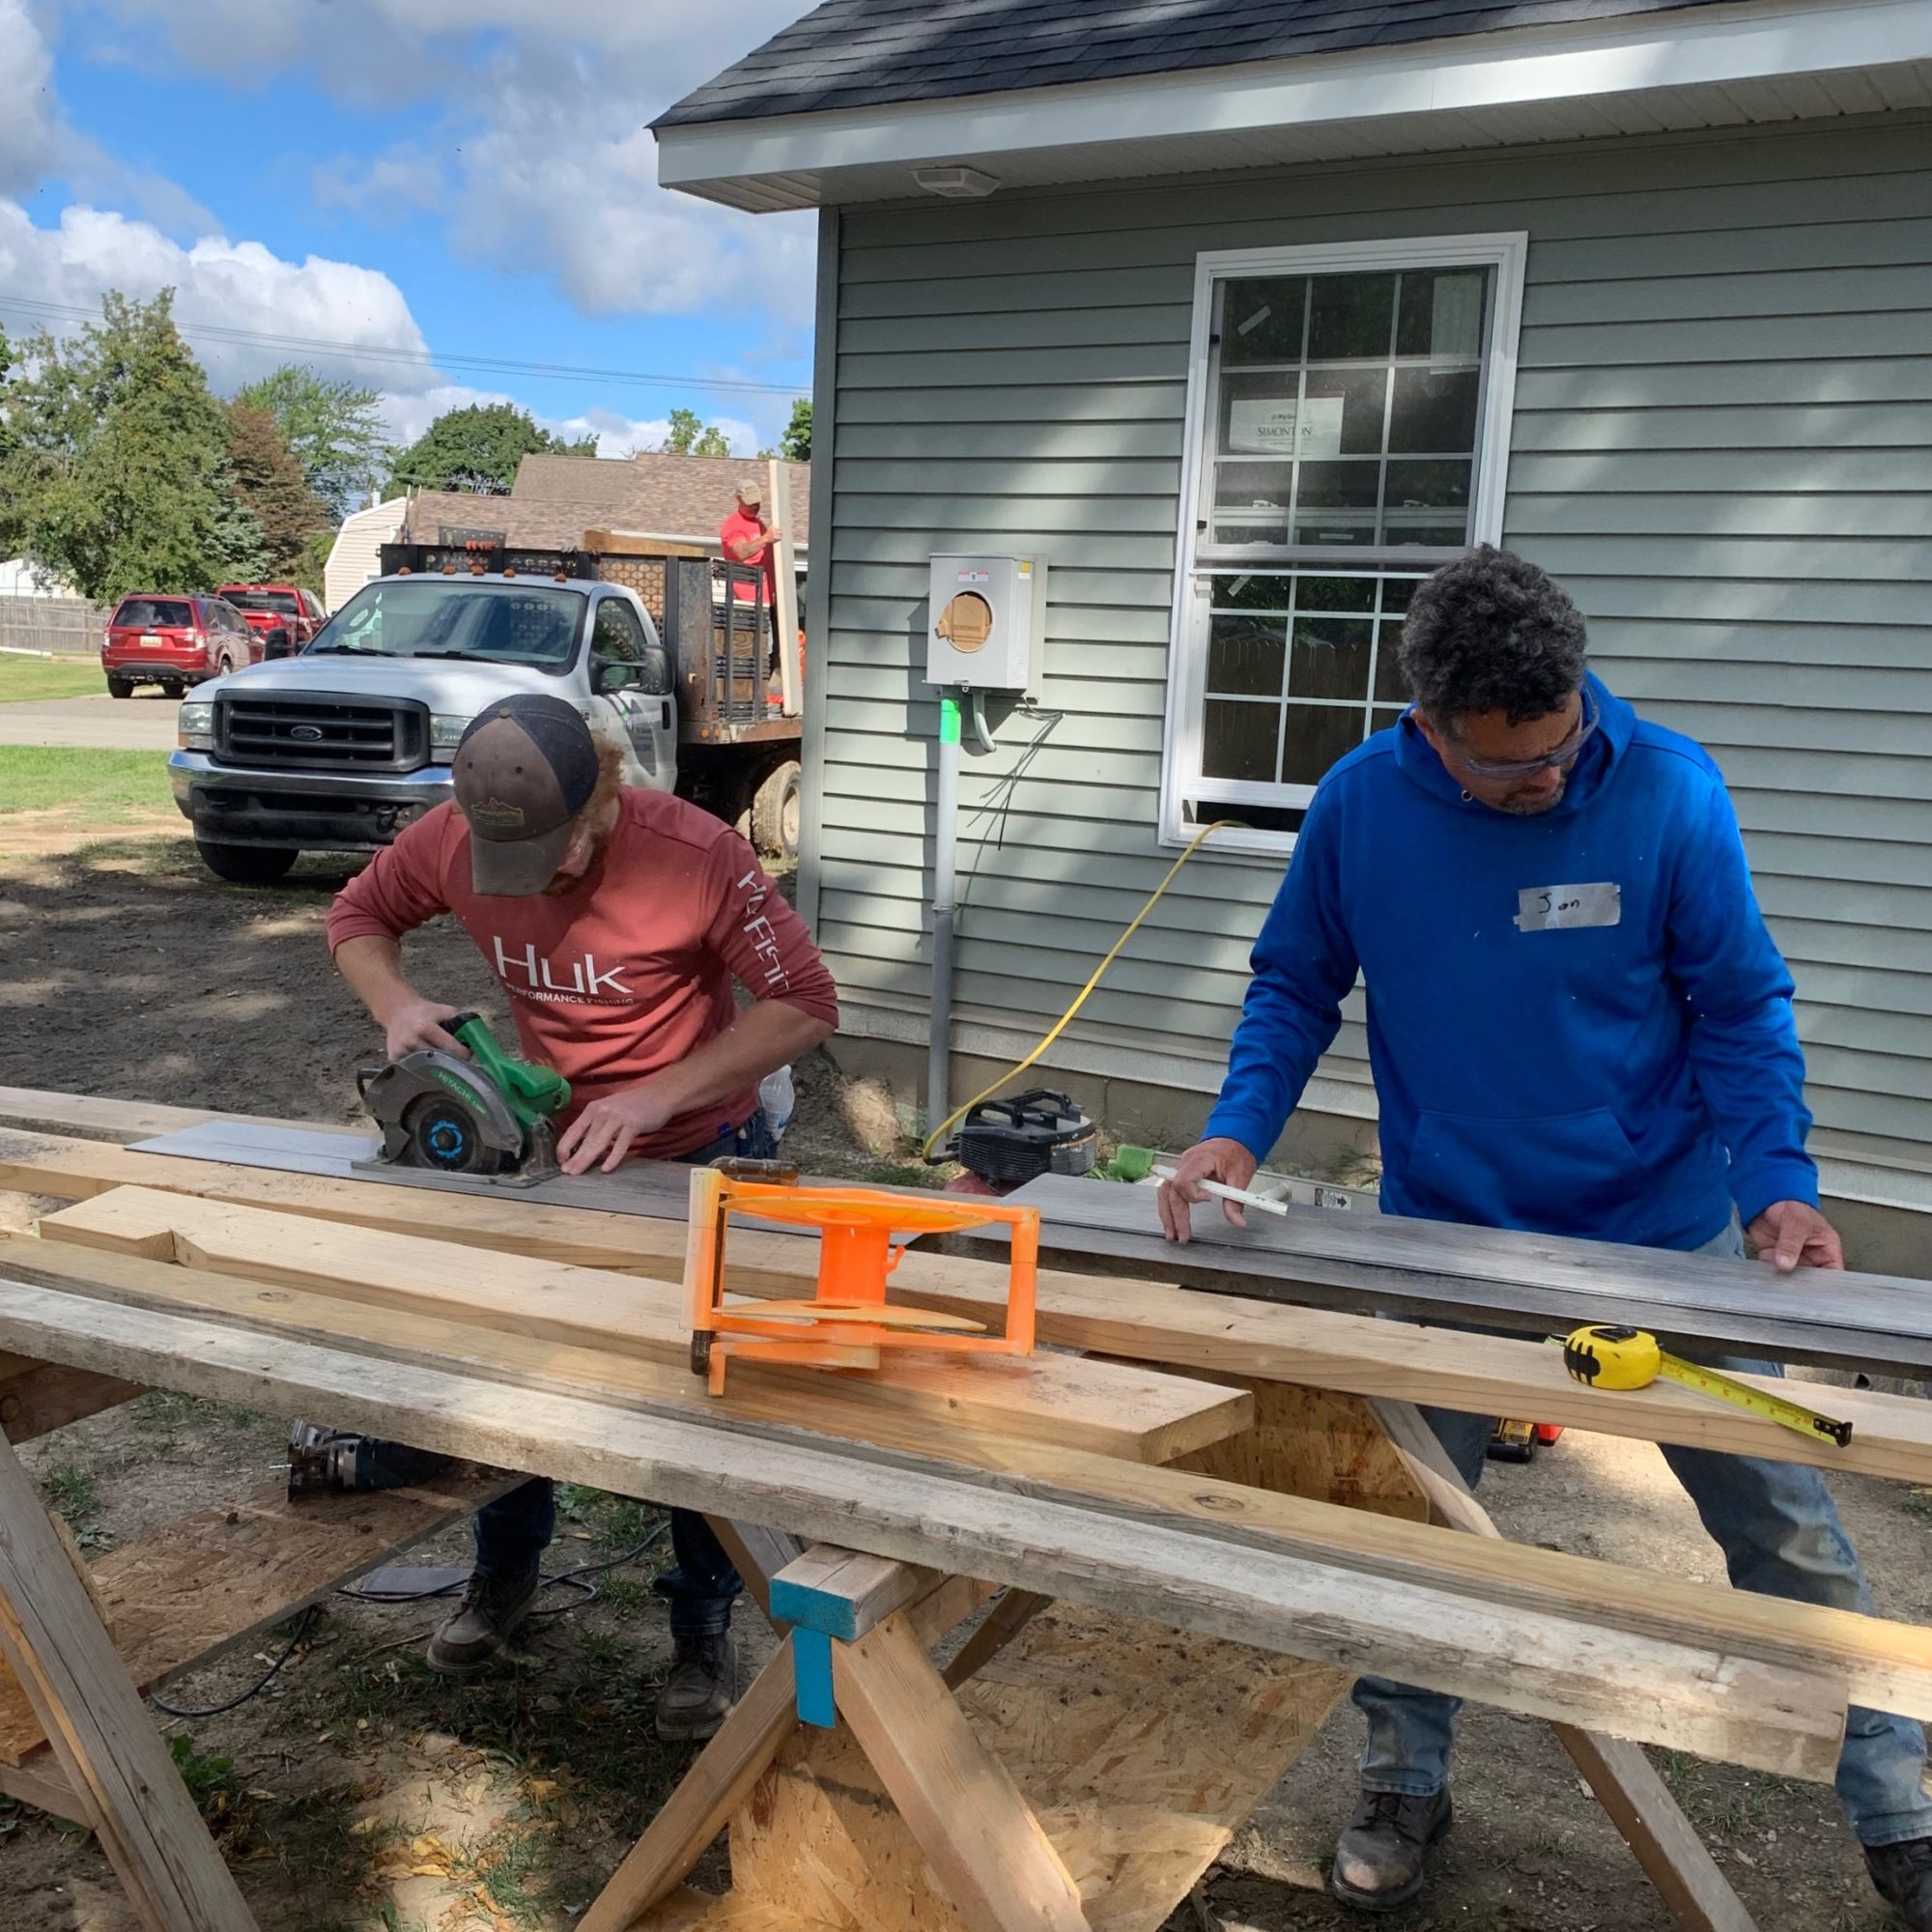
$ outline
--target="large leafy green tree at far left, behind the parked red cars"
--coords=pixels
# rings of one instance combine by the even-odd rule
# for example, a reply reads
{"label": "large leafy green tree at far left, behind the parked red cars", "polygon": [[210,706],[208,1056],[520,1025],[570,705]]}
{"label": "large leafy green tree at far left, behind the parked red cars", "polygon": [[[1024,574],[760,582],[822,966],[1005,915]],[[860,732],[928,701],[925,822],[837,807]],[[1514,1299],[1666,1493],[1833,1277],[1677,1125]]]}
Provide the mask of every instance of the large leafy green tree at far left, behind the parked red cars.
{"label": "large leafy green tree at far left, behind the parked red cars", "polygon": [[25,344],[6,388],[0,502],[21,549],[85,597],[205,589],[245,531],[224,508],[228,419],[174,327],[174,290]]}

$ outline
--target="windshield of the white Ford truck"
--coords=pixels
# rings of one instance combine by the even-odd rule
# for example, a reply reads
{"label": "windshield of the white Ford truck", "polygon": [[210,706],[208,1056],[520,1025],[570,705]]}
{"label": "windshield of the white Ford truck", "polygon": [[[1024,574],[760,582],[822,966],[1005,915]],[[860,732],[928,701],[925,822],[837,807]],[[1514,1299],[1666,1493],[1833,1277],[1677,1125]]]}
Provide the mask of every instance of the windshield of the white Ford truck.
{"label": "windshield of the white Ford truck", "polygon": [[323,626],[309,653],[466,657],[562,670],[583,628],[583,591],[549,583],[388,578],[365,583]]}

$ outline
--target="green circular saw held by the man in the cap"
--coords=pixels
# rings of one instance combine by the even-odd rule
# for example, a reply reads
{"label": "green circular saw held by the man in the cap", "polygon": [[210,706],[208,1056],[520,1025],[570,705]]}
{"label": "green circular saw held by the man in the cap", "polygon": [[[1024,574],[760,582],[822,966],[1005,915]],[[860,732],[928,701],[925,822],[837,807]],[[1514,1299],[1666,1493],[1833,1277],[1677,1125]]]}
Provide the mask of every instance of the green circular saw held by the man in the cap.
{"label": "green circular saw held by the man in the cap", "polygon": [[551,1117],[570,1105],[570,1082],[504,1053],[481,1014],[460,1012],[444,1032],[469,1049],[468,1061],[417,1047],[355,1074],[383,1128],[377,1157],[357,1165],[425,1167],[522,1188],[562,1173]]}

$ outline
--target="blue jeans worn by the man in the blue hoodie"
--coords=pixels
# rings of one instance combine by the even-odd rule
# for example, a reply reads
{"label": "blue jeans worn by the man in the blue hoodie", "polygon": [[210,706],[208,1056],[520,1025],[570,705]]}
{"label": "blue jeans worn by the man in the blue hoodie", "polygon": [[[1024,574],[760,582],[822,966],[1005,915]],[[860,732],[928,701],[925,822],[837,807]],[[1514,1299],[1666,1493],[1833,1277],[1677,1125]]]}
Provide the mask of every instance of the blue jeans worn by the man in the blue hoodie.
{"label": "blue jeans worn by the man in the blue hoodie", "polygon": [[[1698,1252],[1743,1256],[1745,1240],[1733,1225]],[[1750,1376],[1783,1374],[1777,1362],[1743,1356],[1714,1356],[1710,1366]],[[1492,1418],[1449,1408],[1424,1408],[1422,1416],[1463,1480],[1476,1488]],[[1872,1592],[1816,1468],[1677,1447],[1665,1447],[1663,1461],[1723,1549],[1735,1588],[1870,1613]],[[1366,1791],[1428,1797],[1449,1781],[1449,1747],[1461,1698],[1362,1677],[1354,1687],[1354,1706],[1368,1719],[1362,1748]],[[1837,1760],[1837,1797],[1861,1843],[1897,1845],[1932,1837],[1932,1803],[1918,1783],[1924,1762],[1926,1741],[1917,1723],[1857,1704],[1851,1708]]]}

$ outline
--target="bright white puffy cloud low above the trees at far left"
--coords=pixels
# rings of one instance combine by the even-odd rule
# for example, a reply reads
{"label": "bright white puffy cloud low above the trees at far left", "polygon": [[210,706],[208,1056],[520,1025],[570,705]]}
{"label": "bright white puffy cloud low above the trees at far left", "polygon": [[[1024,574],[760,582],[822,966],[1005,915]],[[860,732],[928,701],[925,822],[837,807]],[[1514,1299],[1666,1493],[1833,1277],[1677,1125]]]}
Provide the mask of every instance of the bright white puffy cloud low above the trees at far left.
{"label": "bright white puffy cloud low above the trees at far left", "polygon": [[[284,261],[259,242],[207,236],[184,247],[153,222],[85,207],[66,209],[58,228],[37,228],[17,203],[0,201],[0,288],[15,301],[89,313],[110,288],[141,299],[174,288],[182,332],[218,390],[234,390],[284,361],[313,361],[323,375],[381,388],[419,392],[435,381],[427,363],[396,359],[398,352],[423,355],[425,344],[386,274],[319,255]],[[6,299],[0,313],[8,313]],[[66,334],[79,317],[15,307],[10,321],[21,328],[46,323]]]}

